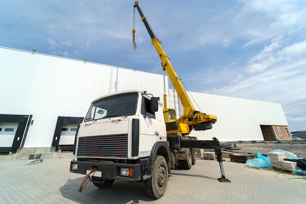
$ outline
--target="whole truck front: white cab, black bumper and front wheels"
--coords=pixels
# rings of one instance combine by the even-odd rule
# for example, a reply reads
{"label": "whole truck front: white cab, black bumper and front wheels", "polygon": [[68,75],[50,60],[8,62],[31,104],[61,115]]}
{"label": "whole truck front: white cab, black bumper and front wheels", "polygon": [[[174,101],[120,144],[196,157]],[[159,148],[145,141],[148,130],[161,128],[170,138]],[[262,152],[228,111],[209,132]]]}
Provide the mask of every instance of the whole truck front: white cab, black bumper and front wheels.
{"label": "whole truck front: white cab, black bumper and front wheels", "polygon": [[[108,187],[115,180],[142,180],[149,195],[161,197],[167,186],[170,153],[159,98],[131,90],[95,99],[78,127],[74,154],[77,158],[71,161],[70,172],[87,175],[94,171],[91,181],[98,187]],[[158,166],[155,170],[154,165]],[[160,192],[154,193],[156,189]]]}

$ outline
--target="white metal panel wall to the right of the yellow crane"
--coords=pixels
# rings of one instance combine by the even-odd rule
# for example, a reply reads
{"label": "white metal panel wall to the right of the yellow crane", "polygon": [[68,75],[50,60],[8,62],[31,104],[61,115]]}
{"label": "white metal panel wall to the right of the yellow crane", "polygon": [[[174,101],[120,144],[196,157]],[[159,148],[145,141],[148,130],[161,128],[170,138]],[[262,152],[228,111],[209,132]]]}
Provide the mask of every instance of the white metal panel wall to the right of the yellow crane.
{"label": "white metal panel wall to the right of the yellow crane", "polygon": [[196,92],[190,96],[196,110],[218,117],[213,129],[191,132],[198,139],[263,140],[260,125],[288,125],[281,104]]}

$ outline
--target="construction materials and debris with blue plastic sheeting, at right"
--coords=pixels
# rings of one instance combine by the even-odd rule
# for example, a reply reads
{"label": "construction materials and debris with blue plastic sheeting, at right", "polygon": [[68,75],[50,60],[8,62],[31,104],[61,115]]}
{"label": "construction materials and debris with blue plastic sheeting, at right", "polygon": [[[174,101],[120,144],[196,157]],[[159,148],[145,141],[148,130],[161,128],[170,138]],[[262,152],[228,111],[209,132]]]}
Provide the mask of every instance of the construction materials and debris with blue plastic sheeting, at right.
{"label": "construction materials and debris with blue plastic sheeting, at right", "polygon": [[[237,143],[237,145],[236,145]],[[287,145],[288,142],[256,142],[256,141],[238,141],[238,142],[220,143],[223,160],[229,158],[231,161],[245,163],[248,167],[278,169],[281,171],[288,171],[294,175],[306,175],[306,156],[297,156],[289,151],[282,149],[272,150],[277,145]],[[241,145],[241,143],[244,143]],[[258,145],[255,145],[255,144]],[[262,148],[262,144],[266,148]],[[282,146],[284,146],[282,145]],[[302,144],[304,145],[304,144]],[[290,144],[292,146],[292,144]],[[300,145],[301,146],[301,145]],[[285,146],[288,149],[288,146]],[[304,154],[305,147],[302,146],[299,151],[295,152]],[[269,149],[267,151],[267,149]],[[249,151],[251,150],[251,151]],[[255,153],[254,150],[264,150],[263,154]],[[249,153],[246,153],[249,152]],[[212,149],[196,149],[196,157],[201,159],[216,159],[214,150]]]}

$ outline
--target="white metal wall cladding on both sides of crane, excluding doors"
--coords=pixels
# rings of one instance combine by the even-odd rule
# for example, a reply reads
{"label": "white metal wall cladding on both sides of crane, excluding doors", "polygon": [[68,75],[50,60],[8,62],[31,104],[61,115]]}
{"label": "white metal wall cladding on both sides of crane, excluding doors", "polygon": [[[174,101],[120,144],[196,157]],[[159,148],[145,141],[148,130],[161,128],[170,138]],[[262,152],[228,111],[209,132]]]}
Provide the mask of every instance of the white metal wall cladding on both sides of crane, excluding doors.
{"label": "white metal wall cladding on both sides of crane, excluding doors", "polygon": [[[33,115],[24,147],[49,147],[58,116],[84,117],[93,99],[129,89],[162,100],[163,75],[0,47],[0,113]],[[212,130],[192,132],[198,139],[262,140],[260,125],[288,125],[280,104],[191,94],[202,112],[218,116]]]}

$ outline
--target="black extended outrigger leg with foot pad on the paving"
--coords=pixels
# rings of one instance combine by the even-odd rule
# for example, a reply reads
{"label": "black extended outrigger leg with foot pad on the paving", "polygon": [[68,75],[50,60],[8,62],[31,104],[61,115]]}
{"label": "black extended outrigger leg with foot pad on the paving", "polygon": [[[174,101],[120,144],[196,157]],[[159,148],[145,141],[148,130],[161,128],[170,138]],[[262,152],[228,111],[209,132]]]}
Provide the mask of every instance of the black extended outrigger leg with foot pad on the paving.
{"label": "black extended outrigger leg with foot pad on the paving", "polygon": [[199,148],[199,149],[214,149],[217,160],[219,161],[221,178],[218,179],[220,182],[231,182],[225,178],[223,169],[223,159],[220,148],[219,140],[214,137],[213,140],[181,140],[181,147],[184,148]]}

